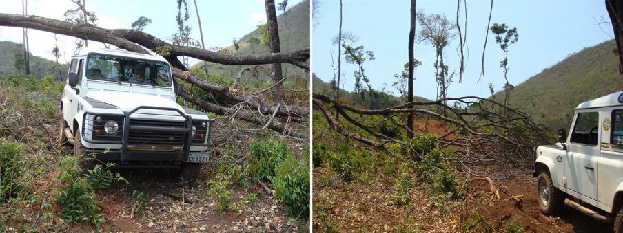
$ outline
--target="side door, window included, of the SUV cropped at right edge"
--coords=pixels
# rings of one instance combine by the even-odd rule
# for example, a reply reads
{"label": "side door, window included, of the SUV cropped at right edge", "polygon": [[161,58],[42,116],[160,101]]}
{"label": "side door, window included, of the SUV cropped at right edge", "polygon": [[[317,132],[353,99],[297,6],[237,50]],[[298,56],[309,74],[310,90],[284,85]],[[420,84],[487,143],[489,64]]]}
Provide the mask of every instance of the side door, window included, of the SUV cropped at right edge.
{"label": "side door, window included, of the SUV cropped at right edge", "polygon": [[578,110],[569,137],[564,169],[565,187],[577,192],[576,197],[592,205],[597,203],[599,132],[600,109]]}

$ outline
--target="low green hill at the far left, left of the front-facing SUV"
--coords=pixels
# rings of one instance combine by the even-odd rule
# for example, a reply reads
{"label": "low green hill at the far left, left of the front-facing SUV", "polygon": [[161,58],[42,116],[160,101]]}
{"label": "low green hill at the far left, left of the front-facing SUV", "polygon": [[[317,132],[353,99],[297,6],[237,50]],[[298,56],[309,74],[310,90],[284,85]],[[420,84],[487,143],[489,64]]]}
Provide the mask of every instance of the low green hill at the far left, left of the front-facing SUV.
{"label": "low green hill at the far left, left of the front-facing SUV", "polygon": [[[17,45],[19,44],[12,41],[0,41],[0,76],[23,73],[23,70],[18,70],[14,66],[15,56],[13,50]],[[60,69],[63,77],[65,77],[68,69],[67,65],[61,64]],[[30,56],[30,74],[39,79],[43,78],[45,74],[58,76],[57,63],[40,56]]]}

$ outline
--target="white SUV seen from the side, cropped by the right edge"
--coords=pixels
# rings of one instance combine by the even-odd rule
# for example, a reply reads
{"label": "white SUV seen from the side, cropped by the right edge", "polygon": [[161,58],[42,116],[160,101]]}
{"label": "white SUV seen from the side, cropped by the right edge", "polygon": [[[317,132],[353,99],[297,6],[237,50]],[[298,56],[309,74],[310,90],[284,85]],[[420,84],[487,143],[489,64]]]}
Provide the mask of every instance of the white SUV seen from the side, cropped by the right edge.
{"label": "white SUV seen from the side, cropped by the right edge", "polygon": [[623,232],[623,91],[583,102],[569,137],[535,150],[534,175],[541,212],[563,204]]}

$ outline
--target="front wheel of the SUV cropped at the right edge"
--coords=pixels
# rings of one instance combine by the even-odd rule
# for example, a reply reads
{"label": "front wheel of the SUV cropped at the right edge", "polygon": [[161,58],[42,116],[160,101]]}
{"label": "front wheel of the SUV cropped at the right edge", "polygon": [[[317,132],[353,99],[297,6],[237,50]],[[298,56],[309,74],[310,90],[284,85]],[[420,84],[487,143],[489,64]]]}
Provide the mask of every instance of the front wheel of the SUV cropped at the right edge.
{"label": "front wheel of the SUV cropped at the right edge", "polygon": [[541,172],[537,180],[537,202],[546,215],[558,214],[564,205],[564,193],[556,188],[549,173]]}

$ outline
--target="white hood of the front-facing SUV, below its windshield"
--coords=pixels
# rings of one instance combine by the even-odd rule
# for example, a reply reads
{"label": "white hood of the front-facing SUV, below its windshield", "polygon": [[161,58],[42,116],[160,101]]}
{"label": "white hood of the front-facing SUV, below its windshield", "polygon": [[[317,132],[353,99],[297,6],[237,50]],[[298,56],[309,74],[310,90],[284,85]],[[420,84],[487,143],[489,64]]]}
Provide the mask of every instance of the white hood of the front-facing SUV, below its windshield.
{"label": "white hood of the front-facing SUV, below its windshield", "polygon": [[86,97],[112,104],[119,107],[121,111],[132,111],[136,107],[143,106],[172,108],[184,112],[174,100],[163,96],[116,91],[90,91]]}

